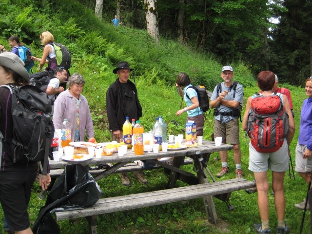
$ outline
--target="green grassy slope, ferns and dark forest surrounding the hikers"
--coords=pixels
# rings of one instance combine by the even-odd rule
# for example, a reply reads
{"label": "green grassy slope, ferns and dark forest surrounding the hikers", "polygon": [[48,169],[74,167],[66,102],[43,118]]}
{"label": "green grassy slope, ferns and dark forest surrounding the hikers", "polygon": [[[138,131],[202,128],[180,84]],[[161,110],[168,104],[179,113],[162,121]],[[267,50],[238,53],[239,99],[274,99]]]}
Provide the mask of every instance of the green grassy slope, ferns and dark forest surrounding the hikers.
{"label": "green grassy slope, ferns and dark forest surrounding the hikers", "polygon": [[[278,74],[281,86],[292,92],[297,130],[290,146],[294,164],[300,110],[306,98],[301,85],[310,76],[311,1],[159,0],[158,42],[147,33],[144,2],[103,0],[101,20],[95,16],[95,4],[91,0],[2,0],[0,44],[10,48],[7,39],[11,35],[18,35],[31,47],[36,57],[41,57],[39,35],[45,30],[50,31],[57,42],[65,44],[72,52],[71,74],[79,72],[86,80],[83,95],[89,101],[98,142],[110,141],[105,94],[108,86],[117,78],[112,70],[118,61],[126,60],[136,69],[138,95],[143,106],[140,120],[145,130],[152,129],[155,117],[162,115],[168,126],[168,134],[175,135],[183,131],[185,121],[183,115],[176,117],[181,103],[175,88],[179,72],[188,73],[192,84],[203,84],[212,91],[216,83],[222,81],[221,67],[232,65],[234,79],[244,85],[246,102],[249,96],[258,91],[254,79],[256,74],[271,69]],[[184,25],[188,35],[182,40],[179,27],[176,26],[181,8],[185,10]],[[111,24],[116,13],[123,22],[119,27]],[[280,23],[270,23],[271,17],[278,18]],[[206,40],[201,37],[206,37]],[[37,72],[38,67],[39,63],[36,63],[33,72]],[[213,116],[208,114],[205,139],[210,139],[212,126]],[[249,139],[242,130],[240,135],[244,177],[253,180],[252,173],[247,170]],[[213,160],[217,156],[213,154],[209,162],[213,174],[220,170],[220,162]],[[231,173],[221,179],[234,177],[232,157],[232,152],[229,152]],[[193,172],[192,166],[185,168]],[[305,196],[306,184],[295,175],[295,181],[288,177],[288,173],[285,178],[286,221],[292,231],[298,233],[302,211],[296,210],[293,204]],[[147,171],[146,177],[150,182],[148,186],[142,186],[132,179],[133,186],[126,188],[121,185],[118,175],[109,176],[99,184],[103,196],[113,196],[163,189],[167,179],[160,170]],[[35,185],[29,206],[31,220],[36,219],[40,206],[44,205],[44,201],[38,199],[39,192],[39,187]],[[234,205],[234,211],[227,211],[226,205],[215,199],[219,226],[206,223],[202,199],[195,199],[186,203],[100,215],[98,230],[99,233],[112,234],[253,233],[252,224],[259,222],[256,194],[235,192],[230,202]],[[307,214],[303,233],[310,233],[309,219],[310,214]],[[75,222],[75,225],[68,220],[59,222],[62,233],[87,233],[84,219]],[[270,224],[275,231],[272,195]]]}

